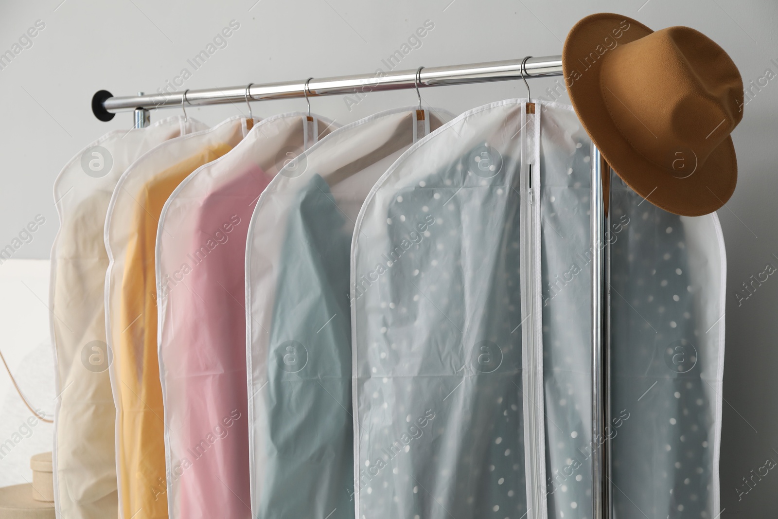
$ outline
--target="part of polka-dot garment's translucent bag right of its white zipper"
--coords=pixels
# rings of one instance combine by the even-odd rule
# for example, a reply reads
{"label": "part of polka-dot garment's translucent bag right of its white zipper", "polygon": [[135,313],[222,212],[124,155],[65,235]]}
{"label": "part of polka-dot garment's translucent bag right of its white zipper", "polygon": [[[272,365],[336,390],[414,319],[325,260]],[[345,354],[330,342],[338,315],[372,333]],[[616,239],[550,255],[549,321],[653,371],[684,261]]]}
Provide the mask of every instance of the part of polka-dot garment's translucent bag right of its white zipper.
{"label": "part of polka-dot garment's translucent bag right of its white zipper", "polygon": [[[589,433],[590,143],[566,131],[578,157],[569,176],[541,170],[549,517],[591,510],[591,458],[604,440]],[[610,224],[615,517],[717,517],[726,272],[717,216],[665,212],[612,174]]]}

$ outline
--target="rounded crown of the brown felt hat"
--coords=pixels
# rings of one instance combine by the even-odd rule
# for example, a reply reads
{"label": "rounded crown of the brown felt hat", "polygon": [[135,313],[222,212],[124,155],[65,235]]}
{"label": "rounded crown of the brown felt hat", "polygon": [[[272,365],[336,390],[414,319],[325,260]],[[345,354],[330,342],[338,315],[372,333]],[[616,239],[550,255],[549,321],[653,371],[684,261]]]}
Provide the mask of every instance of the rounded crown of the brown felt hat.
{"label": "rounded crown of the brown felt hat", "polygon": [[743,117],[738,68],[689,27],[619,45],[603,60],[600,86],[633,149],[675,176],[704,163]]}

